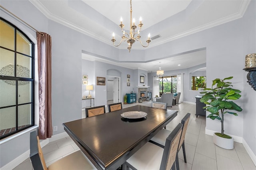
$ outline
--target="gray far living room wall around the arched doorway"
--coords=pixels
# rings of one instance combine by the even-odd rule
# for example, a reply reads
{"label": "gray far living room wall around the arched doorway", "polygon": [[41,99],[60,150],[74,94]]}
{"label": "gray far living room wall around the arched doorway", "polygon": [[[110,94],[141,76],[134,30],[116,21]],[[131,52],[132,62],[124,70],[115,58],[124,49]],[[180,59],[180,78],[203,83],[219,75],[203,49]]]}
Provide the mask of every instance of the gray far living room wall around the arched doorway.
{"label": "gray far living room wall around the arched doorway", "polygon": [[[100,68],[100,69],[99,69]],[[91,95],[95,97],[95,106],[107,104],[107,86],[96,85],[96,77],[118,76],[121,84],[121,102],[124,100],[124,95],[130,93],[132,90],[136,93],[136,86],[138,86],[138,79],[140,73],[147,74],[143,70],[134,70],[124,68],[112,64],[102,63],[99,61],[88,61],[82,59],[82,74],[88,75],[88,84],[93,85]],[[130,75],[130,86],[127,86],[127,74]],[[81,79],[82,80],[82,79]],[[107,80],[107,79],[106,79]],[[146,84],[146,83],[145,83]],[[85,91],[85,85],[82,85],[82,96],[87,96],[88,91]],[[88,105],[86,105],[88,106]]]}

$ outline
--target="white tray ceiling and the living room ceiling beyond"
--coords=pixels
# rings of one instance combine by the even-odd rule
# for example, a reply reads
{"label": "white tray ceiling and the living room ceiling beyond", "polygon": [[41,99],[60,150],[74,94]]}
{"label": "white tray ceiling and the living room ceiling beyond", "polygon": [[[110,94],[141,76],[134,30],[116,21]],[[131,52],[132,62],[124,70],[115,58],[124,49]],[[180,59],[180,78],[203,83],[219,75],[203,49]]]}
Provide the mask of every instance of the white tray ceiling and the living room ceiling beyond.
{"label": "white tray ceiling and the living room ceiling beyond", "polygon": [[[121,40],[120,17],[127,30],[130,25],[129,0],[30,0],[46,17],[76,29],[90,37],[112,45],[112,33],[116,42]],[[150,47],[241,18],[250,0],[133,0],[132,17],[142,17],[142,42],[146,44],[148,33],[160,38],[151,41]],[[126,49],[123,42],[118,47]],[[145,49],[139,42],[132,49]],[[128,50],[127,50],[128,53]],[[99,60],[106,63],[140,68],[148,72],[158,70],[159,61],[142,63],[110,62],[97,57],[82,55],[83,59]],[[206,51],[196,51],[160,60],[162,70],[188,68],[206,63]],[[178,66],[181,64],[181,66]]]}

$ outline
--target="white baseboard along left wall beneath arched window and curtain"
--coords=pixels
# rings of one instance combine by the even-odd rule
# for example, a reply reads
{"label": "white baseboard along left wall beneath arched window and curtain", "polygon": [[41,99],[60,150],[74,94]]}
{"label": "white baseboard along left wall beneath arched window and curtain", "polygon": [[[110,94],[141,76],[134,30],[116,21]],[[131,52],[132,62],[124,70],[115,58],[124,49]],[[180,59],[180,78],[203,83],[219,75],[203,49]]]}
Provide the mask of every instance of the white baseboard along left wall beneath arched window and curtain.
{"label": "white baseboard along left wall beneath arched window and curtain", "polygon": [[[48,143],[56,141],[58,139],[62,139],[64,137],[68,137],[68,133],[63,132],[63,133],[60,133],[60,134],[57,134],[57,135],[53,135],[51,138],[47,138],[45,140],[40,141],[40,145],[41,145],[41,147],[44,147]],[[2,168],[0,168],[0,170],[12,170],[12,169],[14,169],[16,166],[21,164],[24,160],[29,158],[29,155],[30,155],[30,150],[27,150],[26,152],[24,152],[23,154],[21,154],[20,156],[18,156],[17,158],[12,160],[11,162],[9,162],[8,164],[4,165]]]}

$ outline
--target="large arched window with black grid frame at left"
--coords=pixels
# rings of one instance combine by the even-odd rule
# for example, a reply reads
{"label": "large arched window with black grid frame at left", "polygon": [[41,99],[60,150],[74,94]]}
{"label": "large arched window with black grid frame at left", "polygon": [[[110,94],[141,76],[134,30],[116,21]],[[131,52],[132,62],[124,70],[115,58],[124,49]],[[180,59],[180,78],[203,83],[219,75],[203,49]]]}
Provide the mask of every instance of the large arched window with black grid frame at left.
{"label": "large arched window with black grid frame at left", "polygon": [[34,43],[0,18],[0,139],[34,125]]}

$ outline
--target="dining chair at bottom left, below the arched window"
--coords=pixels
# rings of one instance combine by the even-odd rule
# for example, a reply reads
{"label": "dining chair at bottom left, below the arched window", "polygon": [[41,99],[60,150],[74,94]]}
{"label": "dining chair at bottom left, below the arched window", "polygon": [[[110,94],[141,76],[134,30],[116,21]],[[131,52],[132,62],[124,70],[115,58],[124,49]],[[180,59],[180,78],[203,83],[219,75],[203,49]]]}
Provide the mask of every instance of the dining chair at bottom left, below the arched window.
{"label": "dining chair at bottom left, below the arched window", "polygon": [[96,170],[96,167],[81,150],[69,154],[47,167],[36,131],[30,133],[30,160],[34,170]]}

